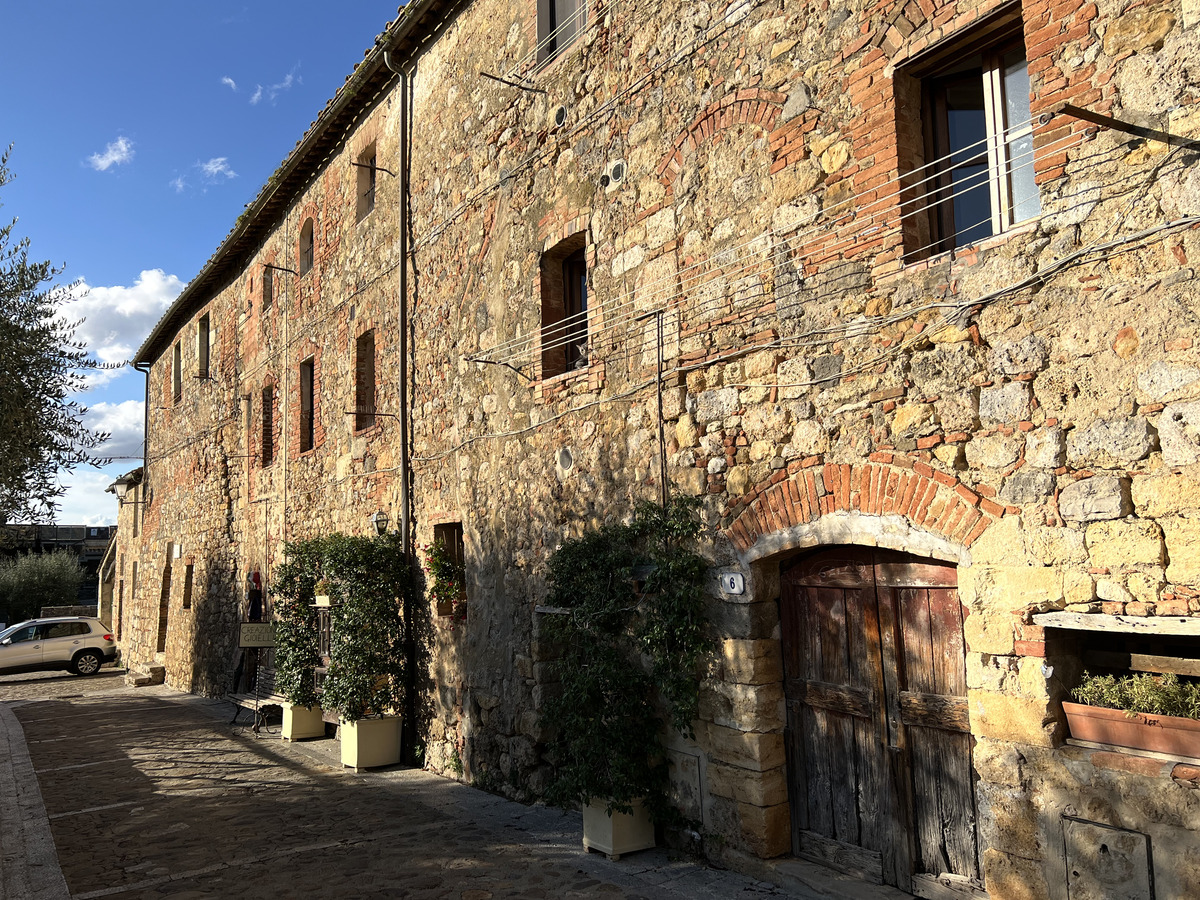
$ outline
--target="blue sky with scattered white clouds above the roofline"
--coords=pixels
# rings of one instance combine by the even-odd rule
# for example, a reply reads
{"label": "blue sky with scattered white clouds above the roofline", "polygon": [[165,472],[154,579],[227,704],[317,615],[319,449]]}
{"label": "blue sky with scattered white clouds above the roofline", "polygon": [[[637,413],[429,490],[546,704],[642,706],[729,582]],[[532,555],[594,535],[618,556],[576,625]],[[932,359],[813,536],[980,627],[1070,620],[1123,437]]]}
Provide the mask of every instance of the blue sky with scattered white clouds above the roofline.
{"label": "blue sky with scattered white clouds above the roofline", "polygon": [[[35,259],[65,264],[86,296],[97,359],[127,359],[204,265],[371,47],[397,0],[344,4],[10,4],[0,49],[0,146],[13,181],[0,218]],[[97,376],[79,397],[113,432],[102,452],[140,457],[144,379]],[[103,488],[134,468],[64,478],[58,521],[116,521]]]}

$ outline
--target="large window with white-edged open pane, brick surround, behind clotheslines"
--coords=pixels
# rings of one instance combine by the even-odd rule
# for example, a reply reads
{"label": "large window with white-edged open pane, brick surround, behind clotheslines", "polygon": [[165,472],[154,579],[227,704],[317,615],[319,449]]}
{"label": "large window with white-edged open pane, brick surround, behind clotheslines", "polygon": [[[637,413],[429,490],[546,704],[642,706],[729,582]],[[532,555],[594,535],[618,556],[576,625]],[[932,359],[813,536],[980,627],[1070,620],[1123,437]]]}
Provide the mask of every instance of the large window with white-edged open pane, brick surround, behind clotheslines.
{"label": "large window with white-edged open pane, brick surround, behind clotheslines", "polygon": [[[938,44],[898,74],[900,149],[911,170],[904,194],[906,259],[977,244],[1042,211],[1016,6]],[[917,109],[919,136],[904,121]]]}

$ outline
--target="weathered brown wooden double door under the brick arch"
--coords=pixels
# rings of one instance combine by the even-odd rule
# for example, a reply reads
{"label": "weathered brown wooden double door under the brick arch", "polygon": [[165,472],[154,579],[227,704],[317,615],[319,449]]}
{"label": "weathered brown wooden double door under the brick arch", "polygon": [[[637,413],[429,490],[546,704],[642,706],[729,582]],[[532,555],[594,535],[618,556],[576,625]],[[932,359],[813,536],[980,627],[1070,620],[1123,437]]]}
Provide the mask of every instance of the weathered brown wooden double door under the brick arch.
{"label": "weathered brown wooden double door under the brick arch", "polygon": [[781,582],[793,852],[919,896],[986,896],[954,566],[834,547]]}

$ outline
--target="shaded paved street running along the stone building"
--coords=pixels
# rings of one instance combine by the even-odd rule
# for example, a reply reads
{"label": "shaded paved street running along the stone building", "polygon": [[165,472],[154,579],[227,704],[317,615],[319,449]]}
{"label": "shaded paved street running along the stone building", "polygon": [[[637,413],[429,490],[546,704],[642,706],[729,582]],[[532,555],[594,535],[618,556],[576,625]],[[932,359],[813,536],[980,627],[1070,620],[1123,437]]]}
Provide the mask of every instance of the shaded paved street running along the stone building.
{"label": "shaded paved street running along the stone building", "polygon": [[[420,770],[354,774],[332,756],[332,740],[284,744],[230,726],[230,714],[228,703],[164,688],[127,689],[112,670],[90,679],[0,678],[0,750],[10,751],[0,790],[20,800],[0,814],[0,893],[6,900],[892,893],[859,894],[836,881],[850,893],[788,894],[662,850],[610,862],[582,851],[577,816]],[[24,748],[40,798],[29,791]]]}

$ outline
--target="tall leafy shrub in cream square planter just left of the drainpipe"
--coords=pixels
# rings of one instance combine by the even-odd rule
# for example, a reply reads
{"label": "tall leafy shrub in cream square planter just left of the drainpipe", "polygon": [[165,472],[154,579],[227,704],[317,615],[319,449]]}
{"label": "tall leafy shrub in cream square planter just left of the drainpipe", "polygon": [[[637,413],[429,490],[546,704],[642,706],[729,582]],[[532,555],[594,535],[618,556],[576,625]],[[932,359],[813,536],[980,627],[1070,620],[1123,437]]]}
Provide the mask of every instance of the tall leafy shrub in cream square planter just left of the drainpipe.
{"label": "tall leafy shrub in cream square planter just left of the drainpipe", "polygon": [[322,704],[340,716],[342,764],[391,766],[400,762],[406,696],[407,559],[396,535],[330,535],[322,569],[336,586]]}

